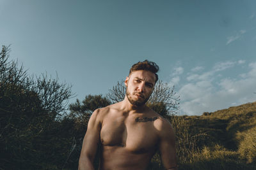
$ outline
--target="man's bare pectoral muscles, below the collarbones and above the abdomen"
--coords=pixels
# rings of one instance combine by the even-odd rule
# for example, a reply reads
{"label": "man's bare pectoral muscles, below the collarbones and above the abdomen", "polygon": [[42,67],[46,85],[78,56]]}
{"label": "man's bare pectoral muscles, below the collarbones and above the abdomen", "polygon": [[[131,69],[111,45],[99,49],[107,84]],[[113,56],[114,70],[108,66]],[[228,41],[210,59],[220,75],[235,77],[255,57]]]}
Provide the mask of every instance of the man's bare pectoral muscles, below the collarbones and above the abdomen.
{"label": "man's bare pectoral muscles, below the collarbones and above the abdomen", "polygon": [[139,117],[127,120],[113,118],[102,124],[100,140],[105,146],[125,147],[131,152],[147,152],[156,148],[158,137],[154,128],[157,117]]}

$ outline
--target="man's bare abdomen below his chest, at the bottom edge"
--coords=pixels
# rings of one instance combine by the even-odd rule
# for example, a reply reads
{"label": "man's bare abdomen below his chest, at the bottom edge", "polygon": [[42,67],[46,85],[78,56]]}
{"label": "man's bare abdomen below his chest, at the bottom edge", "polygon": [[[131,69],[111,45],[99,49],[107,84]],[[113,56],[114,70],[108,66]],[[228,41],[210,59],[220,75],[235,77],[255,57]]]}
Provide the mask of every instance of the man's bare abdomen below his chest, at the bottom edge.
{"label": "man's bare abdomen below his chest, at the bottom edge", "polygon": [[141,170],[147,169],[154,152],[143,150],[132,152],[125,146],[102,146],[100,170]]}

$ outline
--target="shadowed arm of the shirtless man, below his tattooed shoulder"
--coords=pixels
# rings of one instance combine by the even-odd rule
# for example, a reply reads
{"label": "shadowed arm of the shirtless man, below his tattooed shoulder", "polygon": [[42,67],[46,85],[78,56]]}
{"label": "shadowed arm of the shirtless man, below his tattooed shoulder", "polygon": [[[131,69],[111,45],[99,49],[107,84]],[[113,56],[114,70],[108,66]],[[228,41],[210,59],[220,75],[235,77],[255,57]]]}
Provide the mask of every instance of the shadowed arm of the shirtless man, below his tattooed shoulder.
{"label": "shadowed arm of the shirtless man, below his tattooed shoulder", "polygon": [[175,150],[175,133],[170,122],[163,120],[159,126],[162,163],[167,170],[177,170],[177,157]]}

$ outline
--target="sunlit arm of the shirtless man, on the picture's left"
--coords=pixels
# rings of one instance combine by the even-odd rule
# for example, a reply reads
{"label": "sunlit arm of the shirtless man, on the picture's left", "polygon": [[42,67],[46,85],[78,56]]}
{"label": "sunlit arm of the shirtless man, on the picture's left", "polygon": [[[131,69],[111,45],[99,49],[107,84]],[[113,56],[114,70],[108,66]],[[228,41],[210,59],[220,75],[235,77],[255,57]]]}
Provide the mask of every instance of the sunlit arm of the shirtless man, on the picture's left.
{"label": "sunlit arm of the shirtless man, on the picture's left", "polygon": [[91,170],[93,167],[93,160],[97,152],[97,146],[100,141],[100,117],[99,109],[93,111],[92,116],[88,122],[86,134],[83,139],[83,146],[79,158],[79,170]]}

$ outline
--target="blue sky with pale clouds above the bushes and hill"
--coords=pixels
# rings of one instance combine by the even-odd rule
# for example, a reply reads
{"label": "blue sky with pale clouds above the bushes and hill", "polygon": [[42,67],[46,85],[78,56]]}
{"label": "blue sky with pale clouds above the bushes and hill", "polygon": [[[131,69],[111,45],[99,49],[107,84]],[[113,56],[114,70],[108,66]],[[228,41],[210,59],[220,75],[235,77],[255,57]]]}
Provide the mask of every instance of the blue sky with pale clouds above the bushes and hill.
{"label": "blue sky with pale clouds above the bushes and hill", "polygon": [[0,21],[11,59],[57,72],[78,99],[108,93],[148,59],[182,114],[256,101],[256,1],[0,0]]}

